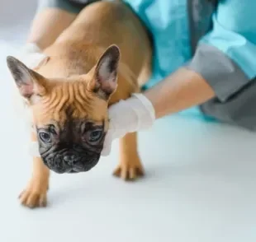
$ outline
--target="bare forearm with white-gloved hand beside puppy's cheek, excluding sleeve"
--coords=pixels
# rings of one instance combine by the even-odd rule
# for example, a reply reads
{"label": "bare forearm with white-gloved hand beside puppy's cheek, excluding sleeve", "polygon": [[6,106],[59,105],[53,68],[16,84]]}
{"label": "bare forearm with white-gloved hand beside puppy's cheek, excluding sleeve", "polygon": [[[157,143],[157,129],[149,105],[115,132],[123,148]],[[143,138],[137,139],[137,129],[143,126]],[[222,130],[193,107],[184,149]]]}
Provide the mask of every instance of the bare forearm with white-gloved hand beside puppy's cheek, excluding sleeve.
{"label": "bare forearm with white-gloved hand beside puppy's cheek, excluding sleeve", "polygon": [[110,128],[102,156],[107,156],[111,151],[113,139],[149,128],[154,119],[199,105],[214,95],[199,74],[183,67],[144,94],[136,94],[111,105]]}

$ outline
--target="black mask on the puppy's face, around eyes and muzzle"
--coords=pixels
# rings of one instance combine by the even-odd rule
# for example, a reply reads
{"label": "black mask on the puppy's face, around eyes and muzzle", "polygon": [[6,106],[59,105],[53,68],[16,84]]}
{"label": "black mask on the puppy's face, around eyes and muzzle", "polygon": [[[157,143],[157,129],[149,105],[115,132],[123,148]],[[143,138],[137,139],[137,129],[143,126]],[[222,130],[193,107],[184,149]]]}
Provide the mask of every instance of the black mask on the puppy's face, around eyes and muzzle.
{"label": "black mask on the puppy's face, around eyes and muzzle", "polygon": [[[70,109],[67,111],[69,113]],[[100,137],[96,142],[88,142],[88,133],[99,130]],[[51,142],[40,139],[40,132],[49,133]],[[88,171],[97,164],[102,151],[106,133],[104,121],[95,124],[88,120],[68,119],[62,127],[50,123],[44,128],[38,128],[38,140],[40,144],[40,156],[50,170],[57,173],[77,173]],[[89,136],[90,137],[90,136]],[[74,156],[75,162],[66,163],[66,156]]]}

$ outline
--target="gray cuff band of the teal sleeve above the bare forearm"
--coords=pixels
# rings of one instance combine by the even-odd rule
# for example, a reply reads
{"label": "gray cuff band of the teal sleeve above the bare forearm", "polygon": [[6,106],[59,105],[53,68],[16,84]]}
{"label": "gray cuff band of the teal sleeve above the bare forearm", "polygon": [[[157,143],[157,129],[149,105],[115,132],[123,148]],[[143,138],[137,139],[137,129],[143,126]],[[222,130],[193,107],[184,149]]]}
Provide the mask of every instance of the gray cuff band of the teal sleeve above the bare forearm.
{"label": "gray cuff band of the teal sleeve above the bare forearm", "polygon": [[250,81],[234,61],[216,47],[206,44],[197,47],[196,54],[187,67],[199,73],[222,102]]}

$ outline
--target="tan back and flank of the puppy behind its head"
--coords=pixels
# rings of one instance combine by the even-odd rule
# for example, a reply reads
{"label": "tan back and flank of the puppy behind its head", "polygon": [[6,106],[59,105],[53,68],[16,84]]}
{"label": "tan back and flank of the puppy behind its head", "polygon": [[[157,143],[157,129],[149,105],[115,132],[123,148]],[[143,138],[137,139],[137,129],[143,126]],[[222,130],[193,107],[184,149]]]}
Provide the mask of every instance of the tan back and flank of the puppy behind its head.
{"label": "tan back and flank of the puppy behind its head", "polygon": [[[130,89],[125,82],[134,81],[135,86],[140,86],[149,78],[152,54],[145,27],[122,1],[95,2],[85,7],[45,52],[56,56],[56,65],[65,65],[60,67],[59,75],[70,76],[90,70],[111,44],[116,44],[121,50],[117,96],[114,99],[125,98],[120,94],[122,90]],[[55,63],[51,62],[49,66],[53,69],[53,77],[56,75]],[[40,71],[44,72],[43,69]],[[50,70],[45,73],[50,75]],[[131,91],[135,90],[128,92]]]}

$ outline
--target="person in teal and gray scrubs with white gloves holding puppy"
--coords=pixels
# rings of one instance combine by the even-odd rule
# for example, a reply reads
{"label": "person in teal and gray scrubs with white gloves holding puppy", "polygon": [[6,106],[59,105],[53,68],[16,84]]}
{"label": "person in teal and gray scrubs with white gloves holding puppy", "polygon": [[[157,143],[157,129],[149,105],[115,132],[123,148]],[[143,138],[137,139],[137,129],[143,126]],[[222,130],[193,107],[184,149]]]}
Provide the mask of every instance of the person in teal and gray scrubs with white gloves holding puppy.
{"label": "person in teal and gray scrubs with white gloves holding puppy", "polygon": [[[40,0],[28,43],[44,49],[92,2]],[[123,2],[152,35],[153,73],[141,94],[110,107],[105,150],[115,138],[190,108],[256,130],[255,0]]]}

